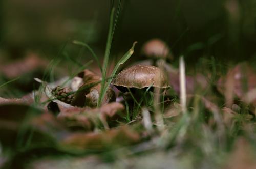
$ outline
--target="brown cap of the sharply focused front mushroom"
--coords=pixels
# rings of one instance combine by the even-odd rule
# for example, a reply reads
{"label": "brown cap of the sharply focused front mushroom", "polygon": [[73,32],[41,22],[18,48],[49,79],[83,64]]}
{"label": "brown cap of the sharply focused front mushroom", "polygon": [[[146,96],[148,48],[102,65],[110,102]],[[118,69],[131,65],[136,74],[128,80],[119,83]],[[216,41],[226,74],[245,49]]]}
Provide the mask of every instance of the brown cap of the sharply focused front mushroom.
{"label": "brown cap of the sharply focused front mushroom", "polygon": [[169,88],[164,72],[151,65],[135,65],[124,69],[114,78],[112,85],[137,89],[150,86],[161,89]]}

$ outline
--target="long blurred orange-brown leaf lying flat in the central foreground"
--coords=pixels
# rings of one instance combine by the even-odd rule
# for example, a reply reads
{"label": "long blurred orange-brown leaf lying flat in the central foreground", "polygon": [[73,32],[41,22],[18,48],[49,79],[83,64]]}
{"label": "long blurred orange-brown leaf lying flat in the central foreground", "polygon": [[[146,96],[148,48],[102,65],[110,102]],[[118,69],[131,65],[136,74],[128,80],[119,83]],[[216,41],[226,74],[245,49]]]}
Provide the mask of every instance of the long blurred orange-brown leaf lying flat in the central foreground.
{"label": "long blurred orange-brown leaf lying flat in the central foreground", "polygon": [[60,145],[76,149],[103,149],[137,143],[140,135],[128,127],[111,129],[102,133],[74,133],[60,142]]}

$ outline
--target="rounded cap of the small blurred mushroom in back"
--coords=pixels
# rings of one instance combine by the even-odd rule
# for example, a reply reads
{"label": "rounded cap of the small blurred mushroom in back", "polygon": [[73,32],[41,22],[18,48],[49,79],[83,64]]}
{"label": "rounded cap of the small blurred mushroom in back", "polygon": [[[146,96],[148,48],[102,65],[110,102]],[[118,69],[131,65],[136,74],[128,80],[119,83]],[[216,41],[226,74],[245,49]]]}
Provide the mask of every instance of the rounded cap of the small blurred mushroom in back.
{"label": "rounded cap of the small blurred mushroom in back", "polygon": [[146,57],[167,58],[170,57],[170,50],[162,40],[152,39],[143,45],[142,54]]}

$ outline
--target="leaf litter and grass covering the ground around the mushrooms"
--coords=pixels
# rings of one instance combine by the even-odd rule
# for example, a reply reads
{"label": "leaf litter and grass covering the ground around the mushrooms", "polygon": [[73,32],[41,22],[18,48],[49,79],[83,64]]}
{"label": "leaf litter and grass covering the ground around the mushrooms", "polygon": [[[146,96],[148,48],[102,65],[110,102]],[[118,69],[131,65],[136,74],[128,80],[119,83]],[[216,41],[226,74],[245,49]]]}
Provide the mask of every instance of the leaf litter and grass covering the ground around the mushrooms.
{"label": "leaf litter and grass covering the ground around the mushrooms", "polygon": [[[175,81],[179,76],[177,72],[176,76],[170,74],[169,80]],[[188,91],[186,111],[189,113],[181,113],[184,110],[179,97],[175,96],[177,99],[174,100],[163,97],[164,126],[161,132],[157,130],[154,106],[143,107],[140,115],[142,119],[136,120],[136,123],[130,123],[134,119],[127,121],[124,100],[115,101],[114,96],[119,93],[116,89],[109,88],[102,106],[97,108],[102,83],[101,77],[91,70],[85,69],[66,83],[63,82],[69,79],[67,77],[54,83],[36,78],[41,90],[22,98],[0,98],[1,160],[4,161],[1,165],[14,167],[16,165],[11,163],[19,162],[24,168],[37,168],[42,165],[40,161],[45,160],[47,166],[55,163],[54,159],[59,155],[69,154],[69,158],[60,161],[70,162],[70,165],[74,165],[74,162],[91,162],[94,166],[141,167],[150,164],[150,160],[148,164],[139,162],[147,156],[149,159],[169,157],[172,161],[169,165],[176,167],[192,168],[196,163],[203,166],[204,162],[212,160],[214,162],[208,165],[253,168],[254,155],[247,152],[250,151],[248,147],[253,146],[251,140],[256,138],[254,70],[247,63],[242,63],[216,80],[221,98],[212,96],[214,93],[203,75],[185,78]],[[193,82],[198,79],[199,83]],[[170,84],[176,93],[180,92],[179,85],[175,87],[175,84]],[[70,90],[65,95],[56,96],[52,90],[58,86]],[[209,90],[204,95],[193,92],[198,86]],[[61,101],[61,97],[71,94],[76,98],[74,102],[68,104]],[[40,96],[39,101],[36,101],[36,96]],[[236,138],[238,136],[241,139]],[[202,144],[198,143],[198,138]],[[243,150],[241,145],[246,145],[246,149]],[[39,152],[41,156],[23,157],[26,160],[33,159],[28,164],[17,160],[20,155],[31,152]],[[198,157],[192,157],[194,153]],[[211,159],[217,154],[220,157]],[[105,160],[113,163],[106,164]],[[137,163],[131,164],[130,161]],[[154,166],[166,166],[164,161],[162,165]]]}

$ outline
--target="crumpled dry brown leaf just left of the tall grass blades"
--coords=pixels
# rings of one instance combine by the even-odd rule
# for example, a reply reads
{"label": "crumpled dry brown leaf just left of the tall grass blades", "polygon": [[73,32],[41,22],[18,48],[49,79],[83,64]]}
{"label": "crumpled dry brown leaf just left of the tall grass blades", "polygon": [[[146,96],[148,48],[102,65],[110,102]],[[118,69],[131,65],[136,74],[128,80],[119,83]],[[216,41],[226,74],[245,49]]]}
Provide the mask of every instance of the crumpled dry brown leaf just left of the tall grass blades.
{"label": "crumpled dry brown leaf just left of the tall grass blades", "polygon": [[[81,84],[81,79],[83,80],[83,83]],[[97,76],[93,72],[91,72],[88,69],[85,69],[81,73],[79,73],[76,77],[73,78],[72,82],[69,84],[70,86],[60,88],[61,91],[61,96],[64,94],[66,97],[60,98],[60,100],[57,100],[55,93],[56,86],[54,89],[48,85],[47,82],[42,81],[38,78],[35,78],[36,81],[42,83],[42,85],[45,88],[45,94],[51,99],[53,102],[57,103],[61,107],[73,107],[73,106],[79,106],[79,107],[84,107],[84,106],[89,106],[89,107],[96,107],[100,90],[101,90],[101,77]],[[77,91],[74,91],[78,88]],[[70,89],[70,90],[63,90],[63,89]],[[71,89],[74,94],[71,92]],[[70,95],[66,91],[69,91]],[[60,93],[57,91],[57,94]],[[63,95],[63,96],[64,96]],[[66,99],[67,98],[67,99]],[[72,99],[71,99],[72,98]],[[72,100],[70,102],[70,100]],[[64,101],[64,102],[63,102]],[[108,103],[115,101],[115,93],[114,91],[109,88],[108,91],[106,92],[104,102],[103,103]],[[67,104],[67,103],[70,104]],[[59,107],[60,108],[60,107]],[[60,108],[61,109],[61,108]],[[60,110],[61,111],[61,110]]]}

